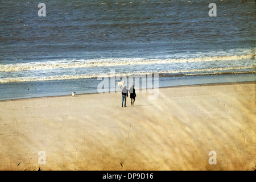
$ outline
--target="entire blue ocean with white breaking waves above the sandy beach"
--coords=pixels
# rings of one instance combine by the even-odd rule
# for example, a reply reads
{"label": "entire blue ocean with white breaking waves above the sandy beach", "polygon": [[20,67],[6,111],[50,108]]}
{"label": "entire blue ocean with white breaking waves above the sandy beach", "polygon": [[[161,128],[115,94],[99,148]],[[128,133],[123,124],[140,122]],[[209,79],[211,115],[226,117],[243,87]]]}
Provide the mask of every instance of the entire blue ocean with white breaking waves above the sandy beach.
{"label": "entire blue ocean with white breaking waves above the sandy beach", "polygon": [[109,76],[256,81],[255,19],[254,0],[1,1],[0,100],[97,93]]}

